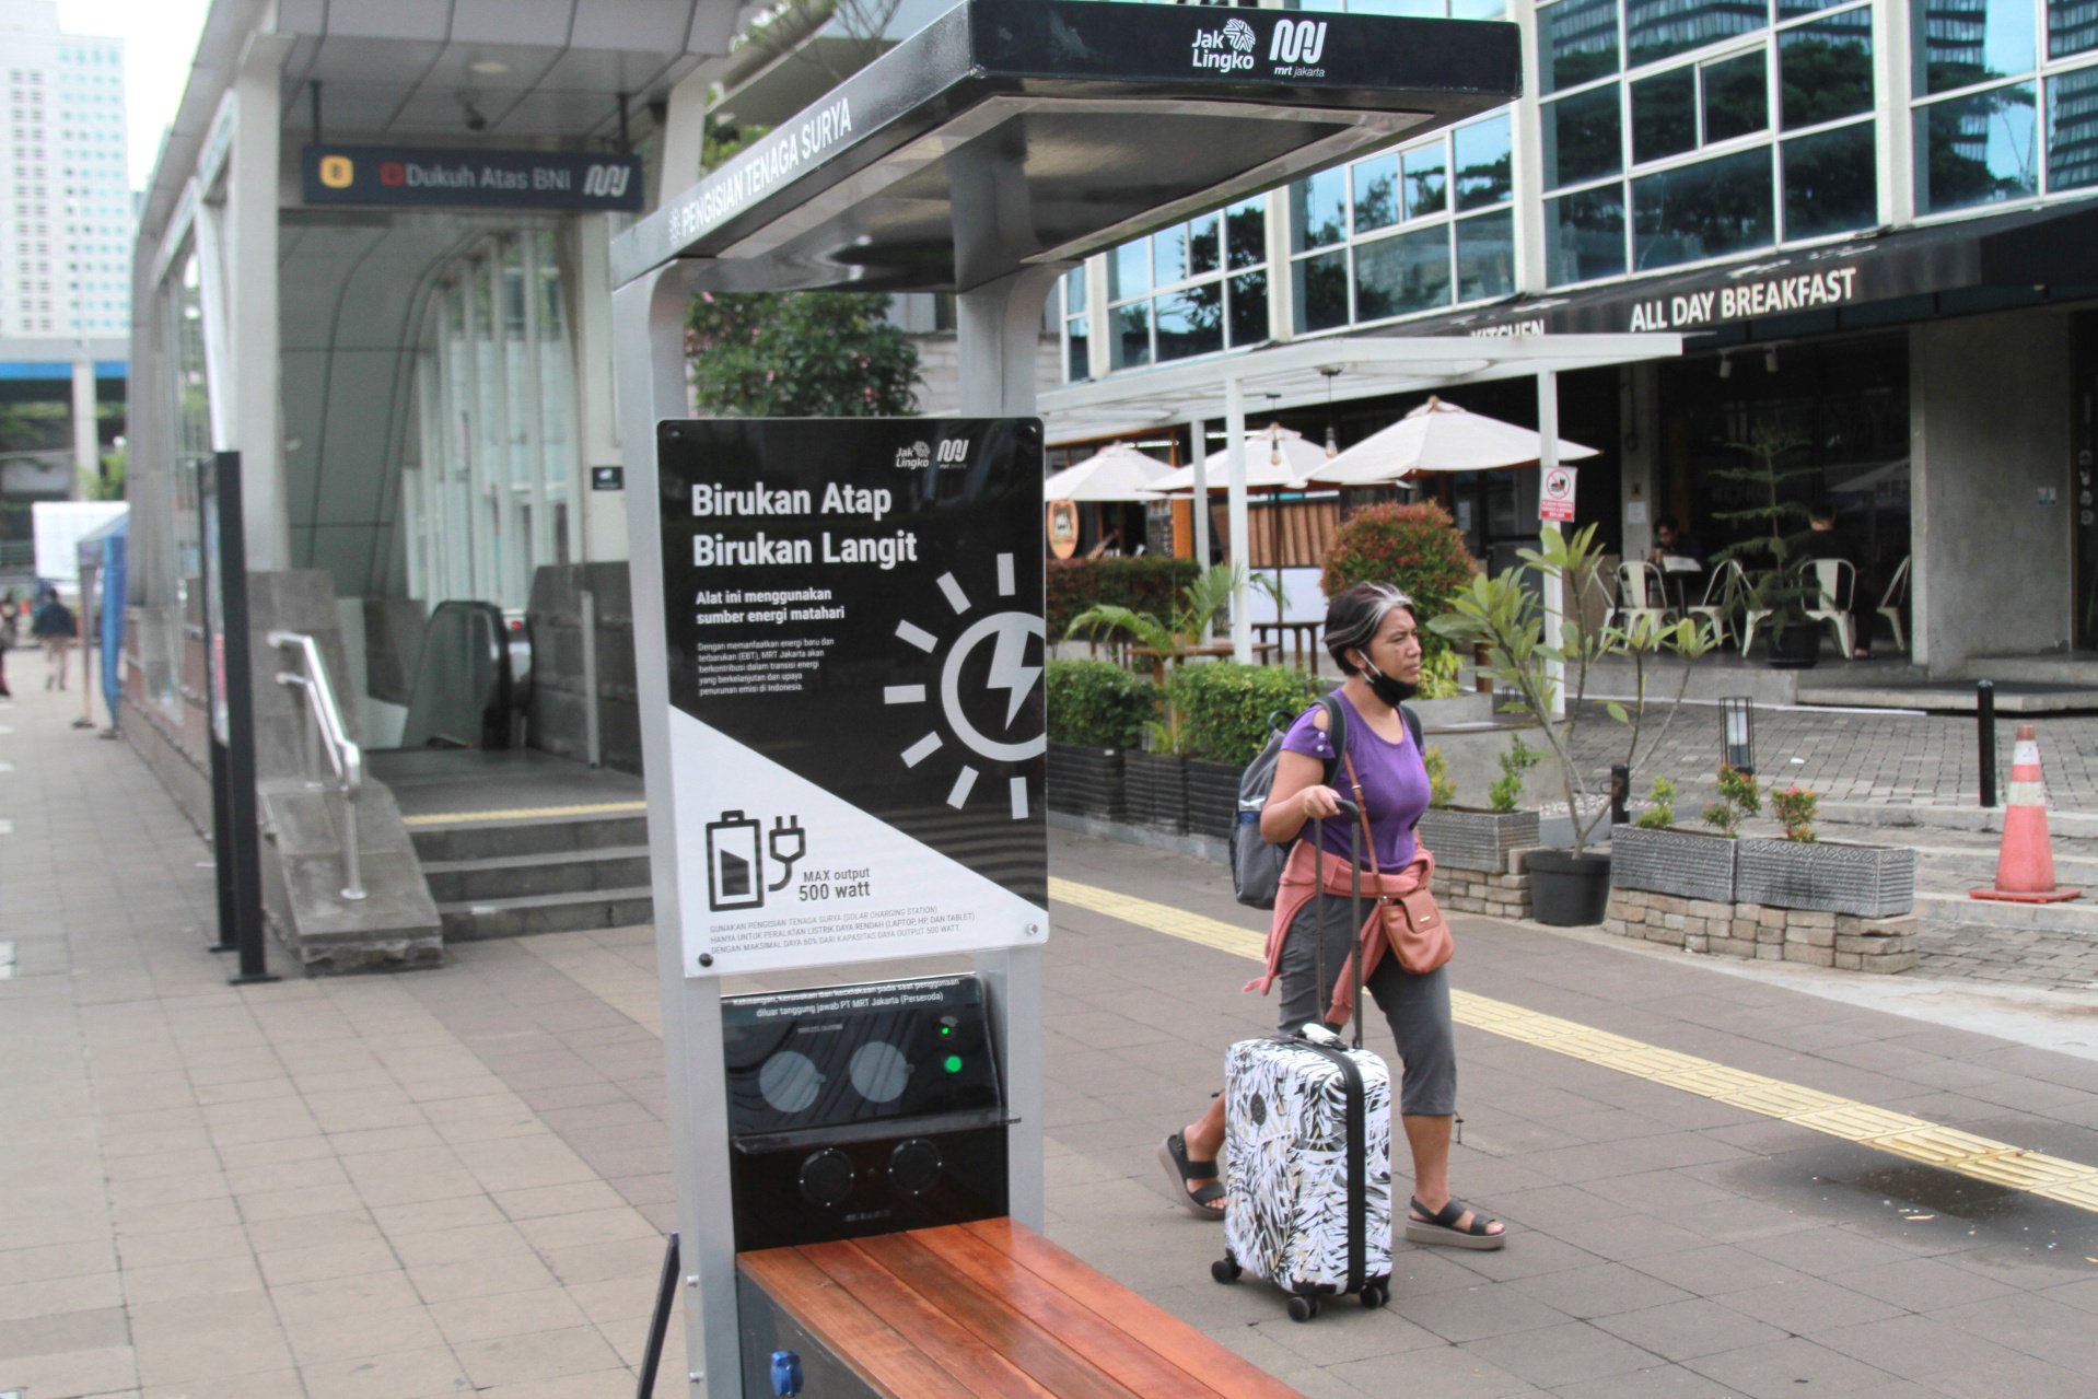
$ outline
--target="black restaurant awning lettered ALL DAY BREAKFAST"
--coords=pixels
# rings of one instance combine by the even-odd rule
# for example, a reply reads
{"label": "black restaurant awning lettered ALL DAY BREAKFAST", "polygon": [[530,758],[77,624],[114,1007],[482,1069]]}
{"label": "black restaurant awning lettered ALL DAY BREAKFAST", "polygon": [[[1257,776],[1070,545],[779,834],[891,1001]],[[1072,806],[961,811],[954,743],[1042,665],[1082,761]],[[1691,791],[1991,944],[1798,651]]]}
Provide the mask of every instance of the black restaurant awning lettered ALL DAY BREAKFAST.
{"label": "black restaurant awning lettered ALL DAY BREAKFAST", "polygon": [[1683,331],[1722,340],[1894,325],[1936,315],[2098,296],[2098,203],[1874,231],[1838,243],[1519,296],[1391,327],[1389,336],[1523,338]]}

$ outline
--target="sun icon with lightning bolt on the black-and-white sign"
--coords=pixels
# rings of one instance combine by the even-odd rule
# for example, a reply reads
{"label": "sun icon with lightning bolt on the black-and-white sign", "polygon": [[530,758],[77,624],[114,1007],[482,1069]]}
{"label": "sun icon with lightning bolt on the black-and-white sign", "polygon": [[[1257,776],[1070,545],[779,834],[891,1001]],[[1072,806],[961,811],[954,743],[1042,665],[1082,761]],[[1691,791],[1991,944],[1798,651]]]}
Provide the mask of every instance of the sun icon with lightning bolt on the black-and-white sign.
{"label": "sun icon with lightning bolt on the black-and-white sign", "polygon": [[[973,610],[967,589],[952,573],[940,575],[940,591],[946,596],[946,604],[955,610],[955,617],[967,619]],[[999,598],[1011,598],[1015,591],[1013,583],[1013,556],[999,554]],[[919,627],[911,621],[896,623],[896,636],[908,646],[923,650],[927,657],[940,650],[940,638],[932,631]],[[946,719],[948,732],[965,747],[969,753],[994,761],[994,763],[1024,763],[1032,757],[1041,757],[1049,747],[1049,734],[1036,732],[1024,738],[992,738],[984,734],[982,728],[969,717],[969,705],[963,703],[963,669],[969,663],[969,654],[984,644],[990,644],[990,665],[978,682],[982,690],[1003,690],[1005,692],[1005,728],[1009,730],[1013,719],[1020,717],[1020,709],[1028,703],[1034,686],[1041,682],[1043,667],[1039,661],[1030,663],[1030,644],[1045,644],[1047,629],[1043,619],[1034,612],[988,612],[967,623],[961,636],[946,650],[946,661],[940,665],[940,713]],[[881,692],[887,705],[923,705],[927,698],[925,686],[887,686]],[[927,757],[946,747],[946,738],[940,730],[932,730],[908,749],[902,751],[906,768],[917,768]],[[963,759],[961,770],[955,772],[955,784],[946,793],[946,803],[957,812],[969,803],[969,795],[976,791],[976,782],[982,774]],[[1028,816],[1028,780],[1024,774],[1013,774],[1007,780],[1007,808],[1013,820],[1026,820]]]}

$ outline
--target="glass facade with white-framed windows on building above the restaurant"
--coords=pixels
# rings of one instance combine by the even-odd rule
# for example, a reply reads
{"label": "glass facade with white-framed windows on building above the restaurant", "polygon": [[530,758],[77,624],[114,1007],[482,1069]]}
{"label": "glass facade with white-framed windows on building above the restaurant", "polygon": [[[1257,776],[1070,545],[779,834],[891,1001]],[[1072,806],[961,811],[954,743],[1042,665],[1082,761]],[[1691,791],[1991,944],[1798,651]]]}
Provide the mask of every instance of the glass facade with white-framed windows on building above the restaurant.
{"label": "glass facade with white-framed windows on building above the restaurant", "polygon": [[1066,287],[1068,380],[2098,189],[2092,0],[1267,8],[1508,19],[1525,96],[1234,206],[1223,260],[1217,214],[1097,258]]}

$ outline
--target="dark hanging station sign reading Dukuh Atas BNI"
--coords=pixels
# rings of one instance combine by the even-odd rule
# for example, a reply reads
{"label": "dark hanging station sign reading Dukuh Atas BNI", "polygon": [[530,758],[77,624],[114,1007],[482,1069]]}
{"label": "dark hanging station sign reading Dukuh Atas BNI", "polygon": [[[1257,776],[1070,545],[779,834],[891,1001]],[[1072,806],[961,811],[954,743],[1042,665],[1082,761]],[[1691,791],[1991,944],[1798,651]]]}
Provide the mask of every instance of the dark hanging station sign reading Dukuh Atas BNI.
{"label": "dark hanging station sign reading Dukuh Atas BNI", "polygon": [[308,145],[306,203],[640,210],[638,155]]}

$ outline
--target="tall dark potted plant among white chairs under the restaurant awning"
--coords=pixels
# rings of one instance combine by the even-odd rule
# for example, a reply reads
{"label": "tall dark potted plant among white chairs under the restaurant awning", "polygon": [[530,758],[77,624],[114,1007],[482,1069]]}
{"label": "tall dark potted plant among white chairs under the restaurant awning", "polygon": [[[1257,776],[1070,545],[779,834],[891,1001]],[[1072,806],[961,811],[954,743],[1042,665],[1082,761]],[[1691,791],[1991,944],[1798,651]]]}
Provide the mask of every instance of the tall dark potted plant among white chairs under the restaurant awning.
{"label": "tall dark potted plant among white chairs under the restaurant awning", "polygon": [[1712,562],[1741,564],[1741,602],[1754,625],[1769,631],[1771,665],[1806,669],[1821,659],[1821,627],[1806,617],[1806,604],[1817,589],[1792,571],[1808,535],[1806,505],[1796,499],[1796,487],[1817,476],[1819,468],[1790,466],[1790,457],[1806,443],[1771,428],[1758,428],[1750,440],[1727,447],[1743,453],[1748,464],[1718,466],[1710,474],[1714,480],[1746,487],[1754,503],[1712,514],[1714,520],[1750,529],[1746,539],[1716,552]]}

